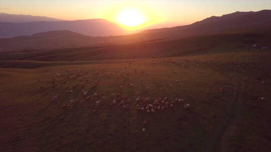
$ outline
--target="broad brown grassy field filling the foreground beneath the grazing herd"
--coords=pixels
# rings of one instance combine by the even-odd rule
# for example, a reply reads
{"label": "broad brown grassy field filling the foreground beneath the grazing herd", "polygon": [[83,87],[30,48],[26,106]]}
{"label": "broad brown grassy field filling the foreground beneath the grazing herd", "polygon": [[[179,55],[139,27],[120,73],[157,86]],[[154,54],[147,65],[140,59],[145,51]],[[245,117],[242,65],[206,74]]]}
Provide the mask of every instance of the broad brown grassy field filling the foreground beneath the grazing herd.
{"label": "broad brown grassy field filling the foreground beneath the grazing herd", "polygon": [[271,53],[216,49],[171,58],[3,60],[0,149],[271,151]]}

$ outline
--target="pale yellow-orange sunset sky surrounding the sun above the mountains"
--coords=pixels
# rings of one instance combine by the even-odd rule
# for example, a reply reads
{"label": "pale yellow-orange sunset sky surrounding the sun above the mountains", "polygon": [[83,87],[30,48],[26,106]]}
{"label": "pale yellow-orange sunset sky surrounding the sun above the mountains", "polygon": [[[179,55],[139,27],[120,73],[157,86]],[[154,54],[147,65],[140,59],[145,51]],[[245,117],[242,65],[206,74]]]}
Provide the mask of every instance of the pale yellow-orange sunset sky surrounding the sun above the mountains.
{"label": "pale yellow-orange sunset sky surrounding the sun above the mountains", "polygon": [[123,9],[141,12],[143,26],[190,24],[212,15],[271,9],[271,0],[0,0],[0,12],[64,20],[104,18],[118,22]]}

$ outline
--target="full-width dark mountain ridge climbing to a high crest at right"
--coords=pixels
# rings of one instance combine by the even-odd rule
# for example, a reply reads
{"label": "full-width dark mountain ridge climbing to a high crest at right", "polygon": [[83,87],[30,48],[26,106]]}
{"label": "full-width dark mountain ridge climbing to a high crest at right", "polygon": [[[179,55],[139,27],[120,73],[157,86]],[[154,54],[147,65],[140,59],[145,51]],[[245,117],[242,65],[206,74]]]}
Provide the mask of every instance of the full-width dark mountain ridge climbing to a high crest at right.
{"label": "full-width dark mountain ridge climbing to a high crest at right", "polygon": [[74,33],[74,31],[69,30],[47,31],[44,33],[36,33],[32,36],[0,38],[0,49],[18,50],[27,48],[44,49],[93,45],[118,45],[154,39],[174,39],[194,35],[252,29],[271,30],[271,10],[233,12],[222,16],[211,16],[190,25],[149,29],[129,35],[88,36],[85,34]]}

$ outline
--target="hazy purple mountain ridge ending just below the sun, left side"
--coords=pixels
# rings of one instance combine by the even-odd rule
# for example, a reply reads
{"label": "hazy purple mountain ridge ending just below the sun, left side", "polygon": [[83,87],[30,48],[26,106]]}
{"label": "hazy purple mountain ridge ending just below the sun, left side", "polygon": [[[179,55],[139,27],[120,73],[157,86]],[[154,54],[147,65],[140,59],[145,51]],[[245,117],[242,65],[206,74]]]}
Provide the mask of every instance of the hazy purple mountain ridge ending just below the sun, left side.
{"label": "hazy purple mountain ridge ending just below the sun, left side", "polygon": [[50,30],[71,30],[90,36],[121,35],[124,28],[105,19],[73,21],[37,21],[26,23],[0,22],[0,37],[31,35]]}

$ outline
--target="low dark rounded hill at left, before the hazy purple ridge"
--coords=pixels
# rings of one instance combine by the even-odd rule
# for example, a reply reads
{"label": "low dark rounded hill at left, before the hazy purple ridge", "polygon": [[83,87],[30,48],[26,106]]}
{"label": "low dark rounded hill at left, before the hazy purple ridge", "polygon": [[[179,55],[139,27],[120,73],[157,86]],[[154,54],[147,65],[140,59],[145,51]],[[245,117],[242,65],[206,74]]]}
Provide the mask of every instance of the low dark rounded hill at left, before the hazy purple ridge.
{"label": "low dark rounded hill at left, before the hazy purple ridge", "polygon": [[0,46],[11,49],[67,48],[91,45],[93,43],[98,43],[98,41],[91,36],[69,30],[48,31],[31,36],[0,38]]}

